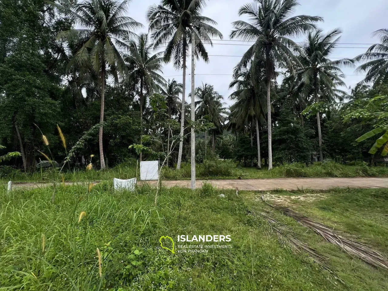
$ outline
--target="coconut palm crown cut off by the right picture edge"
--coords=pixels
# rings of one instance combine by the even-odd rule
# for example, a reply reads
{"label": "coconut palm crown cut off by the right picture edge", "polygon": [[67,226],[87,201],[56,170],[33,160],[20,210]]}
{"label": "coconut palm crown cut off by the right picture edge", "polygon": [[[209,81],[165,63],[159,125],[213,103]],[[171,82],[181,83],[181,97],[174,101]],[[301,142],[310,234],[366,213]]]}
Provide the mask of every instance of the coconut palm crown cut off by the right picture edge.
{"label": "coconut palm crown cut off by the right picture edge", "polygon": [[388,29],[379,29],[373,33],[379,36],[381,43],[372,45],[365,54],[355,57],[356,62],[365,62],[357,68],[359,72],[367,72],[362,84],[381,83],[388,79]]}

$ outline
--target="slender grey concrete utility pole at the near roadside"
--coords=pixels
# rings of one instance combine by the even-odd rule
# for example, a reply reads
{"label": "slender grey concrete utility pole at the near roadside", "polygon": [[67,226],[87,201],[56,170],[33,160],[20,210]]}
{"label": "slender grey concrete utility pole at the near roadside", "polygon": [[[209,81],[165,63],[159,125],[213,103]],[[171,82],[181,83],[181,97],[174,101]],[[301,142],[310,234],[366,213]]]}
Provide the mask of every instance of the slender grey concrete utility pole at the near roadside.
{"label": "slender grey concrete utility pole at the near roadside", "polygon": [[[194,28],[191,32],[191,122],[195,121],[195,86],[194,86],[194,71],[195,71],[195,34]],[[195,190],[195,132],[191,126],[191,189]]]}

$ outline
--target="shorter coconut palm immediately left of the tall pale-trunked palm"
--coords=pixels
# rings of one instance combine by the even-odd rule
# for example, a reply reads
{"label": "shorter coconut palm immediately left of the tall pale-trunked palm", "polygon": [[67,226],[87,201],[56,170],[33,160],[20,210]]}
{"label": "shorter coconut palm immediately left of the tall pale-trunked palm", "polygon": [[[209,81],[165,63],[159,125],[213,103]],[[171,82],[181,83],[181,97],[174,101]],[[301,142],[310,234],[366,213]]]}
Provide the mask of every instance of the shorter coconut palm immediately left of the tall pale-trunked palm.
{"label": "shorter coconut palm immediately left of the tall pale-trunked palm", "polygon": [[[264,76],[262,76],[264,77]],[[256,86],[254,85],[256,84]],[[259,86],[261,84],[261,86]],[[240,127],[245,127],[249,123],[251,126],[255,124],[256,127],[256,142],[257,142],[257,168],[261,169],[261,155],[260,155],[260,134],[259,122],[265,123],[265,82],[253,82],[251,78],[251,69],[241,71],[233,80],[229,89],[236,88],[236,91],[230,95],[230,99],[236,101],[232,106],[232,116],[235,122],[239,123]],[[252,130],[251,130],[252,132]]]}

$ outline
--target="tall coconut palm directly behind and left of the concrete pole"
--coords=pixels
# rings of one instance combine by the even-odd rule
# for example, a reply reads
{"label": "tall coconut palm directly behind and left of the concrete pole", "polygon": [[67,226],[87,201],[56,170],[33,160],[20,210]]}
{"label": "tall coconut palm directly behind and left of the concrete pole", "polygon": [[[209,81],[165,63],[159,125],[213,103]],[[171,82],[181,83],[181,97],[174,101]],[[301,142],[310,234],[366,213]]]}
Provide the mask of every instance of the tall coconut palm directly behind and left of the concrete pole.
{"label": "tall coconut palm directly behind and left of the concrete pole", "polygon": [[159,5],[152,5],[147,11],[149,30],[155,41],[155,47],[165,47],[164,60],[173,59],[175,69],[183,69],[182,113],[180,121],[180,143],[177,168],[180,168],[183,149],[185,90],[186,90],[186,56],[191,43],[191,33],[195,34],[195,54],[209,62],[205,46],[213,46],[211,38],[222,39],[222,34],[213,25],[217,23],[201,15],[206,0],[162,0]]}

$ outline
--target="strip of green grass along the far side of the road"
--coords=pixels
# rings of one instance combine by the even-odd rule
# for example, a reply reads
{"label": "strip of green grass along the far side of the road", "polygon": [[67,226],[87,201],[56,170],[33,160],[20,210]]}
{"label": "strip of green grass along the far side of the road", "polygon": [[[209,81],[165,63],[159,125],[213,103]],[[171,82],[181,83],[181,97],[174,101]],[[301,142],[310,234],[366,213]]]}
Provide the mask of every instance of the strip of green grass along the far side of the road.
{"label": "strip of green grass along the far side of the road", "polygon": [[[0,182],[12,180],[14,182],[50,182],[51,180],[61,181],[102,181],[113,180],[113,178],[129,179],[139,177],[139,168],[136,161],[130,161],[114,168],[99,170],[65,170],[60,173],[53,168],[37,171],[35,173],[24,173],[20,170],[2,171],[0,168]],[[137,171],[136,171],[137,169]],[[303,163],[293,163],[274,167],[271,171],[267,168],[257,170],[256,168],[237,167],[232,161],[211,160],[196,165],[197,179],[254,179],[254,178],[284,178],[284,177],[388,177],[388,167],[368,166],[362,162],[349,166],[334,162],[315,163],[306,166]],[[189,180],[191,170],[189,164],[183,164],[180,170],[163,168],[163,179],[165,180]]]}

